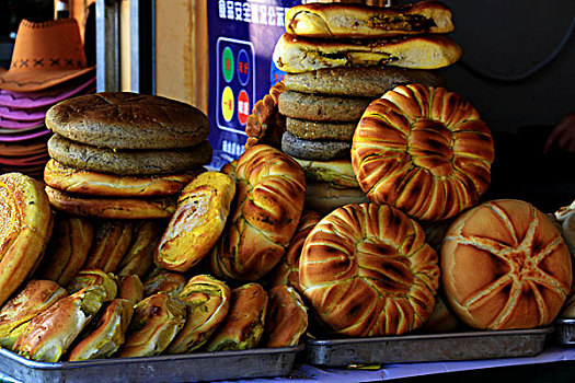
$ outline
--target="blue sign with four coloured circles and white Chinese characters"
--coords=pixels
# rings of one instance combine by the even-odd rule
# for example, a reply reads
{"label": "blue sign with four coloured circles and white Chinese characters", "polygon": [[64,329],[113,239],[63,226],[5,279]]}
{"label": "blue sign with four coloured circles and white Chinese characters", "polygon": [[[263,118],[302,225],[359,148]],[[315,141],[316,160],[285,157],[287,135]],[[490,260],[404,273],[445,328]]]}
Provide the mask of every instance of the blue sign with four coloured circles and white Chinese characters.
{"label": "blue sign with four coloured circles and white Chinese characters", "polygon": [[284,72],[272,61],[286,32],[286,11],[301,0],[207,0],[209,44],[209,142],[219,170],[243,153],[245,120],[253,105]]}

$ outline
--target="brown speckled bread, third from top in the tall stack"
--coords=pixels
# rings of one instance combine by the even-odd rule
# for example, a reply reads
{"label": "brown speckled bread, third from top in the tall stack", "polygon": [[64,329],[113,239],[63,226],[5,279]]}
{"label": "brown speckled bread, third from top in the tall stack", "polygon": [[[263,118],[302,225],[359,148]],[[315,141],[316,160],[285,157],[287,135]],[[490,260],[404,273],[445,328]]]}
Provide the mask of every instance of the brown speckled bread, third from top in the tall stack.
{"label": "brown speckled bread, third from top in the tall stack", "polygon": [[445,78],[437,71],[395,67],[335,67],[302,73],[286,73],[287,90],[345,97],[379,98],[398,85],[418,83],[425,86],[445,86]]}

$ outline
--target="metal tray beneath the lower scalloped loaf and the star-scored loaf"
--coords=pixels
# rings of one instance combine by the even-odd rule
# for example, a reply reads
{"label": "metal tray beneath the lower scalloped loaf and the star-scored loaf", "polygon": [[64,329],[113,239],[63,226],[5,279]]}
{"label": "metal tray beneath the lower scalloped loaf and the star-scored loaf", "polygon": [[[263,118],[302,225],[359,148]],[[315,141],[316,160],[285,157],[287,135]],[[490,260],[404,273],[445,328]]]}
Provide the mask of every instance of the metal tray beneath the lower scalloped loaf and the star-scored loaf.
{"label": "metal tray beneath the lower scalloped loaf and the star-scored loaf", "polygon": [[348,364],[430,362],[527,357],[541,353],[552,327],[393,337],[306,340],[306,361]]}

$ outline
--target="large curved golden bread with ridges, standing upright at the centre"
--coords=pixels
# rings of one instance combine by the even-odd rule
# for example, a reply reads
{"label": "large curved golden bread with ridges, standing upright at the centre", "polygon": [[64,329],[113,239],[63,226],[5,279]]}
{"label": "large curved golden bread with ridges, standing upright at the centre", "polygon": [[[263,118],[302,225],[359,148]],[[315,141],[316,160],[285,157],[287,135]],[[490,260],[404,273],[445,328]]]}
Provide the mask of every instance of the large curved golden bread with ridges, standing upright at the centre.
{"label": "large curved golden bread with ridges, standing upright at the centre", "polygon": [[233,172],[235,198],[227,228],[210,256],[216,276],[256,280],[276,266],[303,211],[301,166],[266,144],[248,149]]}

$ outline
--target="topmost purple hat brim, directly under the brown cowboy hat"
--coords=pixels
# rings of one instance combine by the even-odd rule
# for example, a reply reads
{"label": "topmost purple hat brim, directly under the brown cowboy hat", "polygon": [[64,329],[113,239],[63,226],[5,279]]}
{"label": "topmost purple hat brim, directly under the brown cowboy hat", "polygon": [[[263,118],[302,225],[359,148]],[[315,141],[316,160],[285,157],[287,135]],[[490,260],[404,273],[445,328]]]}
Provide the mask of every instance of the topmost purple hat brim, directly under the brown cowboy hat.
{"label": "topmost purple hat brim, directly under the brown cowboy hat", "polygon": [[89,81],[83,81],[84,82],[81,83],[71,82],[67,83],[67,85],[65,84],[38,92],[24,93],[0,90],[0,105],[18,108],[34,108],[54,105],[71,96],[93,93],[95,90],[92,85],[95,84],[95,78],[92,77]]}

